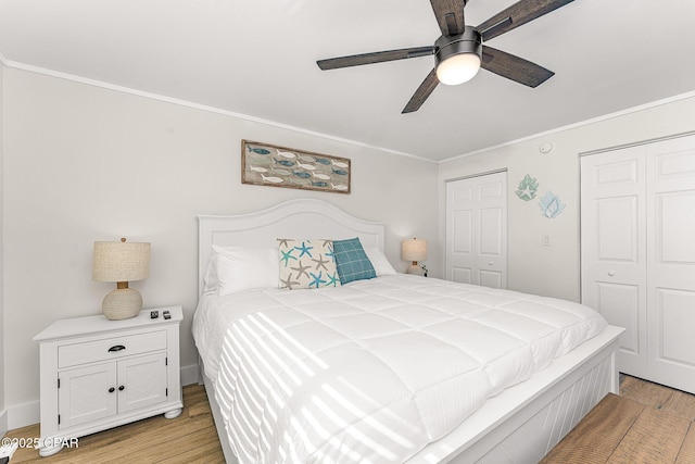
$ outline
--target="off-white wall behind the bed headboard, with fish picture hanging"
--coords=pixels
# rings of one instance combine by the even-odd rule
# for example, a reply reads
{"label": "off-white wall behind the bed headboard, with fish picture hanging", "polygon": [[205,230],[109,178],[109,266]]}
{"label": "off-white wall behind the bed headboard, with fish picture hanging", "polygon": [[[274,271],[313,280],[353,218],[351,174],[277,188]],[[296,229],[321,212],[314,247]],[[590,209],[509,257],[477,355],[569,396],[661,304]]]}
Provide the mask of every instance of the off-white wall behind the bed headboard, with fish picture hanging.
{"label": "off-white wall behind the bed headboard, with fish picture hanging", "polygon": [[[197,362],[197,214],[319,198],[386,222],[399,269],[402,238],[437,240],[434,163],[12,67],[4,83],[8,407],[38,399],[33,337],[58,318],[101,312],[112,285],[91,280],[94,240],[152,243],[150,278],[131,287],[146,306],[184,306],[182,365]],[[242,185],[242,138],[350,158],[352,193]],[[428,263],[439,259],[434,251]]]}

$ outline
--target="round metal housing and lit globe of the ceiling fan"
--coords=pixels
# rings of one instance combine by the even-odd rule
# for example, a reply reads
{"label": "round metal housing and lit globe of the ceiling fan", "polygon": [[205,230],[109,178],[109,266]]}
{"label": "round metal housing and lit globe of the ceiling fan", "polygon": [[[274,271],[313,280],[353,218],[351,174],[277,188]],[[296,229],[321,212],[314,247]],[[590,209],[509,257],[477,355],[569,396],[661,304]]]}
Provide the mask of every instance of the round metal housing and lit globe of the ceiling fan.
{"label": "round metal housing and lit globe of the ceiling fan", "polygon": [[437,78],[447,86],[472,79],[480,71],[482,42],[480,34],[466,27],[458,36],[442,36],[435,43]]}

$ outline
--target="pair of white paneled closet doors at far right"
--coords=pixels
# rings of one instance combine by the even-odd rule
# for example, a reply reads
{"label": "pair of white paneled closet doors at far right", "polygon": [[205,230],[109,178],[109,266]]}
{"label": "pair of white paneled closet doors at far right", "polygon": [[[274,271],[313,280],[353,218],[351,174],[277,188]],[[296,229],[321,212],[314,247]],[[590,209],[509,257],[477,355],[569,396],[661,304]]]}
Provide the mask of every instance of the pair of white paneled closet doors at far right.
{"label": "pair of white paneled closet doors at far right", "polygon": [[695,136],[581,160],[582,302],[621,372],[695,392]]}

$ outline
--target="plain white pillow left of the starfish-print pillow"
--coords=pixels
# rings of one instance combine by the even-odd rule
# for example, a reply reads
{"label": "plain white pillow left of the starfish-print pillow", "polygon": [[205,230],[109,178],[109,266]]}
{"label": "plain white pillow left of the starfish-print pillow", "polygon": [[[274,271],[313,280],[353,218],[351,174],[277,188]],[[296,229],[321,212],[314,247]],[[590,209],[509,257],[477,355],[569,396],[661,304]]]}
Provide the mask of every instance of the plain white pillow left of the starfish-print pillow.
{"label": "plain white pillow left of the starfish-print pillow", "polygon": [[280,265],[277,248],[217,247],[213,244],[219,296],[252,288],[277,288]]}

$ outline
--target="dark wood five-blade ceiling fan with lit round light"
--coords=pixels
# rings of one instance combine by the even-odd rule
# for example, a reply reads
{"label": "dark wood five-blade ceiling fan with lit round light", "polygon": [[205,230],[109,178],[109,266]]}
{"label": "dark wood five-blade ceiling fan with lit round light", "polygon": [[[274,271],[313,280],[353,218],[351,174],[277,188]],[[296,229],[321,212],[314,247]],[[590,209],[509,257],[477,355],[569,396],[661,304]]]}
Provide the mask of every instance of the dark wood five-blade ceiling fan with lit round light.
{"label": "dark wood five-blade ceiling fan with lit round light", "polygon": [[456,85],[470,80],[480,67],[529,87],[536,87],[555,73],[514,54],[484,46],[483,42],[543,16],[573,0],[520,0],[477,27],[464,22],[468,0],[430,0],[442,35],[433,46],[318,60],[321,70],[358,66],[384,61],[433,54],[434,68],[417,88],[402,113],[419,110],[437,85]]}

